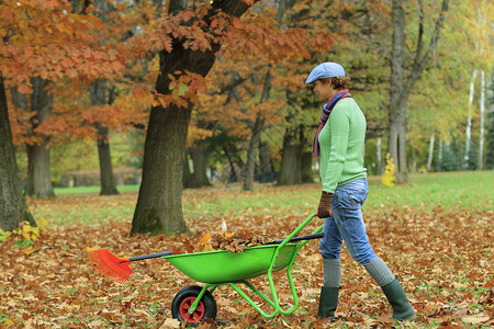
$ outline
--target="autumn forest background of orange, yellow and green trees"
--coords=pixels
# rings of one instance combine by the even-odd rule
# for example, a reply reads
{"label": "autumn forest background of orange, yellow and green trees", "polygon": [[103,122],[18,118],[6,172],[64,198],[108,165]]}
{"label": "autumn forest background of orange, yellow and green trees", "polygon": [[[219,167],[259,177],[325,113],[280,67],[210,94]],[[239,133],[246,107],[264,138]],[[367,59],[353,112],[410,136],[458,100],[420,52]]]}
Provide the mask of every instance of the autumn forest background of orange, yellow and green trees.
{"label": "autumn forest background of orange, yellow and green trees", "polygon": [[[440,3],[426,2],[403,4],[407,14],[405,53],[409,58],[415,55],[418,33],[430,37],[437,19],[435,7]],[[148,31],[160,24],[159,13],[166,10],[166,3],[50,1],[45,8],[35,5],[35,1],[24,3],[18,3],[13,13],[40,14],[37,23],[47,19],[43,15],[55,14],[58,10],[74,13],[67,16],[72,25],[64,25],[66,22],[58,18],[48,22],[53,26],[45,27],[43,34],[55,49],[53,53],[48,49],[45,49],[46,54],[36,53],[41,45],[35,42],[31,45],[26,42],[24,48],[18,49],[7,43],[2,48],[2,65],[9,65],[2,67],[2,73],[8,90],[12,137],[27,195],[48,196],[54,193],[53,186],[99,181],[98,171],[90,182],[83,182],[81,175],[71,175],[74,171],[99,170],[100,166],[110,166],[102,168],[102,173],[112,167],[142,168],[149,107],[153,100],[159,100],[151,92],[159,72],[159,54],[153,52],[153,47],[159,46],[150,45],[155,39],[149,37],[157,36]],[[493,166],[490,87],[493,29],[489,20],[492,4],[489,1],[452,1],[449,5],[437,45],[431,49],[430,64],[414,86],[406,112],[406,157],[413,172],[490,169]],[[419,22],[420,15],[424,18]],[[33,22],[25,22],[20,16],[14,20],[21,27],[25,24],[26,29],[33,29],[30,25],[34,25]],[[352,81],[352,97],[368,120],[366,167],[370,174],[382,174],[389,151],[391,112],[391,3],[266,1],[256,4],[244,20],[252,20],[249,23],[256,30],[249,27],[252,31],[246,32],[245,26],[238,27],[237,44],[223,46],[212,71],[205,81],[201,81],[194,95],[187,166],[183,167],[184,186],[209,185],[212,180],[243,181],[256,138],[257,180],[279,184],[316,180],[317,174],[311,170],[316,161],[311,158],[310,148],[321,104],[303,81],[315,65],[332,60],[341,63],[347,69]],[[60,39],[61,32],[54,31],[82,27],[87,31],[78,37],[79,44],[60,48],[60,43],[67,41]],[[4,41],[8,41],[7,26],[2,29]],[[288,45],[289,41],[302,43],[302,39],[295,39],[301,35],[294,36],[301,31],[316,41],[300,45],[301,48]],[[42,34],[41,31],[24,31],[23,37],[30,38],[35,33]],[[136,38],[146,33],[148,39]],[[248,42],[252,36],[262,41]],[[10,37],[14,43],[14,36]],[[197,44],[201,42],[200,36],[188,37],[195,37],[191,42]],[[5,59],[15,56],[11,61]],[[104,63],[98,63],[99,56],[105,57],[101,59]],[[58,65],[55,68],[58,71],[48,73],[54,68],[44,60],[52,60],[53,66],[59,60],[66,66]],[[29,65],[31,71],[16,73],[26,68],[19,63]],[[108,68],[101,68],[105,64]],[[58,79],[47,80],[50,73]],[[176,84],[178,97],[191,97],[188,83]],[[98,147],[94,140],[98,140]],[[46,147],[49,157],[36,157],[34,149],[38,146]],[[106,157],[110,155],[110,147],[109,162],[101,158],[105,157],[105,148]],[[289,157],[290,154],[295,156]],[[49,163],[43,163],[47,161]],[[48,175],[42,185],[34,182],[36,170],[33,167],[48,169],[40,170],[43,175]],[[117,182],[139,181],[132,170],[127,175],[131,177]],[[102,193],[115,191],[110,183],[110,186],[103,186]]]}

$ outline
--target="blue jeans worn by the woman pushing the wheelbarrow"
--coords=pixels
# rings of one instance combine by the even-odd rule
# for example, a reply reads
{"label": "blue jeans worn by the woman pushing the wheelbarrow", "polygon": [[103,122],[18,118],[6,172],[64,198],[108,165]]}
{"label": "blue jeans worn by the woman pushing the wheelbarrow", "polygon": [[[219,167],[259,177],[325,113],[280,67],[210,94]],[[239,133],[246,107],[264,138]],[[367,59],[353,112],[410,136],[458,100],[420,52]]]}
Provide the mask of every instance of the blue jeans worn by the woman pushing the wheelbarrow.
{"label": "blue jeans worn by the woman pushing the wheelbarrow", "polygon": [[367,179],[336,188],[332,198],[333,215],[324,222],[324,238],[319,242],[324,259],[338,259],[343,241],[353,260],[364,266],[377,257],[369,245],[360,209],[368,193]]}

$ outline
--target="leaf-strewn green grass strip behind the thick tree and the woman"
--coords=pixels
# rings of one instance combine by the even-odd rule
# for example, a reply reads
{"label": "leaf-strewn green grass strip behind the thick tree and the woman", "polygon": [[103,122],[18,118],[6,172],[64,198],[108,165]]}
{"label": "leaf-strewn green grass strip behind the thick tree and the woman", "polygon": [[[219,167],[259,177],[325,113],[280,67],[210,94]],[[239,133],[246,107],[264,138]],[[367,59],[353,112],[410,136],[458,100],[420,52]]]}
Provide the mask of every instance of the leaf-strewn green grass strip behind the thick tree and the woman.
{"label": "leaf-strewn green grass strip behind the thick tree and the woman", "polygon": [[[138,185],[117,186],[121,194],[100,196],[99,186],[56,189],[56,198],[30,200],[35,217],[49,223],[91,224],[131,220],[137,202]],[[438,207],[454,211],[494,209],[494,171],[462,171],[413,174],[409,183],[386,188],[379,178],[369,178],[369,196],[364,212],[382,212],[390,207],[430,211]],[[306,217],[316,211],[321,184],[295,186],[257,185],[243,192],[240,184],[216,184],[213,188],[184,190],[183,215],[188,220],[213,218]]]}

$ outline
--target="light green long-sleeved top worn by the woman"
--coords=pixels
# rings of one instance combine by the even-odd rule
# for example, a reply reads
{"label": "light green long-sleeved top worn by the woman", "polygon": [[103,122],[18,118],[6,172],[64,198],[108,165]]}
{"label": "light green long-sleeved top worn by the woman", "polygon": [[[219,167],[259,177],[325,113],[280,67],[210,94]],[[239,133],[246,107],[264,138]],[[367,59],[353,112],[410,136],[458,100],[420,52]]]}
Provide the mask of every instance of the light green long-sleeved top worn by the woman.
{"label": "light green long-sleeved top worn by the woman", "polygon": [[366,116],[352,98],[343,99],[333,107],[319,133],[323,191],[333,193],[336,186],[367,178],[366,126]]}

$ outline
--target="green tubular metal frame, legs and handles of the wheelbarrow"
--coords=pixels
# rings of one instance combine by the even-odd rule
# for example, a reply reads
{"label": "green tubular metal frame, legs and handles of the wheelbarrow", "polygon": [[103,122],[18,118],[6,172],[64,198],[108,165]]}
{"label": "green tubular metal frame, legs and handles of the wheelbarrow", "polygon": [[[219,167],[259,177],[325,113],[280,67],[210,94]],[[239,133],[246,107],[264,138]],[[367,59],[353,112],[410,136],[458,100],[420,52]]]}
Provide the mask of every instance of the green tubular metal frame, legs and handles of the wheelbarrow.
{"label": "green tubular metal frame, legs and handles of the wheelbarrow", "polygon": [[[274,252],[273,252],[273,254],[272,254],[272,258],[271,258],[271,261],[270,261],[270,264],[269,264],[269,268],[268,268],[268,271],[267,271],[267,273],[266,274],[268,274],[268,280],[269,280],[269,286],[270,286],[270,290],[271,290],[271,295],[272,295],[272,299],[270,298],[270,297],[268,297],[267,295],[265,295],[262,292],[260,292],[258,288],[256,288],[250,282],[248,282],[247,280],[232,280],[232,281],[225,281],[225,282],[215,282],[215,283],[206,283],[206,285],[202,288],[202,291],[200,292],[200,294],[198,295],[198,297],[197,297],[197,299],[192,303],[192,305],[190,306],[190,308],[189,308],[189,314],[193,314],[194,313],[194,310],[195,310],[195,308],[198,307],[198,305],[199,305],[199,303],[201,302],[201,299],[202,299],[202,297],[204,296],[204,294],[206,293],[206,291],[209,291],[210,293],[213,293],[215,290],[216,290],[216,287],[218,287],[218,286],[221,286],[221,285],[229,285],[231,287],[233,287],[242,297],[244,297],[244,299],[246,299],[247,300],[247,303],[249,303],[257,311],[259,311],[259,314],[260,315],[262,315],[263,317],[266,317],[266,318],[273,318],[274,316],[277,316],[278,314],[283,314],[283,315],[290,315],[290,314],[292,314],[292,313],[294,313],[296,309],[297,309],[297,307],[299,307],[299,296],[297,296],[297,294],[296,294],[296,290],[295,290],[295,285],[294,285],[294,283],[293,283],[293,280],[292,280],[292,273],[291,273],[291,270],[292,270],[292,266],[293,266],[293,263],[294,263],[294,261],[295,261],[295,258],[296,258],[296,256],[297,256],[297,253],[299,253],[299,251],[300,251],[300,249],[303,247],[303,246],[305,246],[305,243],[307,243],[308,242],[308,240],[304,240],[304,241],[302,241],[302,242],[299,242],[299,243],[290,243],[290,246],[288,246],[288,247],[294,247],[293,245],[297,245],[296,247],[294,247],[295,248],[295,250],[293,251],[293,253],[292,253],[292,256],[291,256],[291,259],[290,259],[290,261],[288,262],[288,265],[285,266],[287,268],[287,276],[288,276],[288,280],[289,280],[289,282],[290,282],[290,288],[291,288],[291,291],[292,291],[292,296],[293,296],[293,300],[294,300],[294,305],[293,305],[293,307],[291,308],[291,309],[288,309],[288,310],[285,310],[285,309],[283,309],[283,308],[281,308],[281,306],[280,306],[280,302],[279,302],[279,299],[278,299],[278,294],[277,294],[277,291],[276,291],[276,286],[274,286],[274,282],[273,282],[273,279],[272,279],[272,272],[276,272],[276,271],[281,271],[281,270],[283,270],[283,268],[282,269],[280,269],[280,270],[278,270],[278,269],[276,269],[276,262],[277,262],[277,259],[279,258],[279,256],[280,256],[280,252],[282,251],[282,249],[283,248],[285,248],[285,246],[290,242],[290,240],[292,239],[292,238],[294,238],[295,237],[295,235],[296,234],[299,234],[299,231],[302,229],[302,228],[304,228],[313,218],[314,218],[314,216],[315,216],[315,214],[312,214],[311,216],[308,216],[301,225],[299,225],[299,227],[295,229],[295,230],[293,230],[281,243],[279,243],[278,246],[277,246],[277,248],[276,248],[276,250],[274,250]],[[319,232],[319,231],[322,231],[323,230],[323,226],[321,226],[319,228],[317,228],[315,231],[314,231],[314,234],[317,234],[317,232]],[[267,247],[267,246],[263,246],[263,247]],[[260,247],[260,248],[263,248],[263,247]],[[274,247],[274,246],[270,246],[270,247]],[[250,247],[250,248],[258,248],[258,247]],[[244,252],[248,252],[248,249],[249,248],[246,248],[245,249],[245,251]],[[171,262],[171,259],[170,258],[173,258],[173,256],[169,256],[169,257],[164,257],[164,259],[167,259],[168,261],[170,261]],[[172,263],[173,264],[173,263]],[[179,268],[178,268],[179,269]],[[179,269],[180,270],[180,269]],[[265,273],[261,273],[260,275],[262,275],[262,274],[265,274]],[[251,276],[251,277],[255,277],[255,276],[258,276],[258,275],[254,275],[254,276]],[[250,288],[254,293],[256,293],[258,296],[260,296],[265,302],[267,302],[272,308],[274,308],[274,310],[272,311],[272,313],[270,313],[270,314],[268,314],[268,313],[266,313],[266,311],[263,311],[239,286],[238,286],[238,284],[245,284],[248,288]]]}

